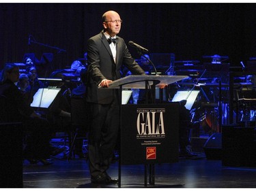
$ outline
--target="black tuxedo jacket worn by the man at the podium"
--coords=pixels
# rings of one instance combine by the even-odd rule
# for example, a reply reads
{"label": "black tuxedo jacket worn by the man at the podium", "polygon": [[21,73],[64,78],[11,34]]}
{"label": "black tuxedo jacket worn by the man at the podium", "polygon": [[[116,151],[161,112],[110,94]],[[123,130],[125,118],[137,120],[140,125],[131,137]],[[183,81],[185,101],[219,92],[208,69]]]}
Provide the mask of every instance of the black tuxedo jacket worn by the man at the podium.
{"label": "black tuxedo jacket worn by the man at the podium", "polygon": [[125,65],[134,75],[143,75],[145,72],[130,55],[124,39],[117,36],[116,63],[113,60],[109,42],[103,31],[88,40],[88,83],[87,102],[109,104],[115,98],[115,89],[98,88],[102,80],[117,80],[121,77],[120,69]]}

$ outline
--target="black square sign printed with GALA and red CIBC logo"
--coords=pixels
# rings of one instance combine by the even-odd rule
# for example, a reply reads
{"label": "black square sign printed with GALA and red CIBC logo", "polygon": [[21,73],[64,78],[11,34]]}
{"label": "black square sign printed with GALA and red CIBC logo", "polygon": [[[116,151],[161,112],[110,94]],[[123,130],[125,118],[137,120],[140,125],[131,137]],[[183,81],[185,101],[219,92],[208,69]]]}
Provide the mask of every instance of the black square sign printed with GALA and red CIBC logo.
{"label": "black square sign printed with GALA and red CIBC logo", "polygon": [[178,103],[122,105],[122,164],[177,162],[178,135]]}

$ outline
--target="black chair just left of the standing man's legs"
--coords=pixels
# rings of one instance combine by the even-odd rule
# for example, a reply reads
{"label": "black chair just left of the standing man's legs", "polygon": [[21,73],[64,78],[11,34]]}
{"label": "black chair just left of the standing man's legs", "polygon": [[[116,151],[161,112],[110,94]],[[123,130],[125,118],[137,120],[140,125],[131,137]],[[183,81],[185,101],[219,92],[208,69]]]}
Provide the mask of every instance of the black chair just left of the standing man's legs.
{"label": "black chair just left of the standing man's legs", "polygon": [[[76,149],[77,139],[86,139],[87,124],[88,124],[88,109],[85,98],[83,97],[71,97],[71,125],[74,129],[72,135],[72,143],[70,147],[69,158],[75,157],[74,150]],[[82,131],[85,135],[79,137],[79,131]],[[82,146],[82,145],[81,145]]]}

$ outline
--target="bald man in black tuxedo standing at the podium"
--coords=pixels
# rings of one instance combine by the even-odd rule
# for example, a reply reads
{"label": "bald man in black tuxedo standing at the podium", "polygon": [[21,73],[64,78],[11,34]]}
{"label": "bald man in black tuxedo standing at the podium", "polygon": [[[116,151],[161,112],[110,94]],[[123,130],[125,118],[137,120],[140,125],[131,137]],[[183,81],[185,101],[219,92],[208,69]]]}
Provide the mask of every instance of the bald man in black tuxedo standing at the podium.
{"label": "bald man in black tuxedo standing at the podium", "polygon": [[90,105],[89,171],[91,182],[117,184],[106,173],[111,164],[119,131],[118,90],[108,88],[109,83],[121,78],[120,69],[126,66],[134,75],[145,72],[130,55],[122,37],[117,36],[122,19],[114,11],[102,16],[104,29],[88,42],[87,103]]}

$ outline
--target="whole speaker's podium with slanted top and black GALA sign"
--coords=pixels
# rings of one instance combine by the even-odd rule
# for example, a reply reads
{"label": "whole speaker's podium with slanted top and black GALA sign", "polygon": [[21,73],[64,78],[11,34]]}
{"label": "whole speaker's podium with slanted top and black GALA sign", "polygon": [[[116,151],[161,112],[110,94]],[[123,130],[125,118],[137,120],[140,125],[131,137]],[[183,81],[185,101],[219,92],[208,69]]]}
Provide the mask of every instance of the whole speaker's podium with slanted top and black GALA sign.
{"label": "whole speaker's podium with slanted top and black GALA sign", "polygon": [[[152,90],[161,84],[173,84],[186,75],[128,75],[111,82],[109,88],[119,88],[122,102],[124,88]],[[147,100],[147,99],[146,99]],[[145,164],[144,185],[147,186],[147,169],[150,184],[154,185],[154,164],[178,161],[179,103],[122,105],[120,103],[119,187],[122,164]],[[127,116],[129,116],[127,118]],[[149,168],[146,166],[150,165]]]}

